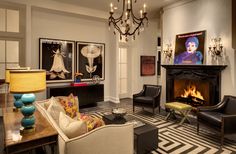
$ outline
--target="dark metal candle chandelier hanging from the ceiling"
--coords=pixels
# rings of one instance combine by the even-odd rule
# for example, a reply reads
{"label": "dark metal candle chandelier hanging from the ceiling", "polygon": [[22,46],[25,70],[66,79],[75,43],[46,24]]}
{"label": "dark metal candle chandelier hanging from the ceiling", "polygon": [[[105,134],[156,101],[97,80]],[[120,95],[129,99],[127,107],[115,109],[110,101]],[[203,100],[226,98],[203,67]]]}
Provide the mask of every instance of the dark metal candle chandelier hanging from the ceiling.
{"label": "dark metal candle chandelier hanging from the ceiling", "polygon": [[[118,0],[119,2],[119,0]],[[140,10],[139,17],[133,13],[133,0],[123,0],[123,10],[118,18],[114,18],[114,10],[116,7],[110,4],[110,17],[109,17],[109,29],[112,26],[114,28],[114,35],[116,34],[115,29],[119,32],[120,40],[125,37],[125,41],[128,41],[128,36],[139,35],[144,30],[144,25],[148,25],[148,18],[146,12],[146,4],[143,5],[143,9]],[[136,3],[137,0],[134,0]]]}

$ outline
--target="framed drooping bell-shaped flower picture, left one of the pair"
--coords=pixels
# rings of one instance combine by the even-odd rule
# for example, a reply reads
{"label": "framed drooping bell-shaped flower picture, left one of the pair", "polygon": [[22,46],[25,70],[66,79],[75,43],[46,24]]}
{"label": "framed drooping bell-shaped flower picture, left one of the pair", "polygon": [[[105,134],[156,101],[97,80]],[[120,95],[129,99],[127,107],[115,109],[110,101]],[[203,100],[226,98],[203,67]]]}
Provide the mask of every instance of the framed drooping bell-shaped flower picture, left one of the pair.
{"label": "framed drooping bell-shaped flower picture, left one of the pair", "polygon": [[75,41],[39,38],[39,68],[47,83],[74,81]]}

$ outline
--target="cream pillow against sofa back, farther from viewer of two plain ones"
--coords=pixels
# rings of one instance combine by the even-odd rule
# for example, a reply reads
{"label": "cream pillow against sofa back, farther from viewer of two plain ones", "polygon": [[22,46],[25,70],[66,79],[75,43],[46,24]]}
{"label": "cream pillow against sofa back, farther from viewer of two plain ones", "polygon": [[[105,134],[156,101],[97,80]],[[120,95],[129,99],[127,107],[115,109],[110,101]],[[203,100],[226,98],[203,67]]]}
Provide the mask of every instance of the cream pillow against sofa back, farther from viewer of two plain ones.
{"label": "cream pillow against sofa back, farther from viewer of two plain ones", "polygon": [[50,105],[47,109],[47,112],[52,116],[52,118],[58,124],[60,112],[65,113],[65,110],[61,104],[57,103],[54,97],[51,97],[49,102],[50,102]]}

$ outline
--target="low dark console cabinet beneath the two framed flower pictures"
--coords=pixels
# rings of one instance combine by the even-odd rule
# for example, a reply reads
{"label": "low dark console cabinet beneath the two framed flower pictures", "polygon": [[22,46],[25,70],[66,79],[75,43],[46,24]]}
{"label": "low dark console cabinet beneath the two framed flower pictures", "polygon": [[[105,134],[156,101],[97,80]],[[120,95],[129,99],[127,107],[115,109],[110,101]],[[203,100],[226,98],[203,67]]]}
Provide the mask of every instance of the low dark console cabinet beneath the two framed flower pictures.
{"label": "low dark console cabinet beneath the two framed flower pictures", "polygon": [[47,87],[47,98],[52,96],[68,96],[73,93],[78,96],[79,106],[85,106],[96,102],[104,101],[104,85],[86,85],[86,86],[51,86]]}

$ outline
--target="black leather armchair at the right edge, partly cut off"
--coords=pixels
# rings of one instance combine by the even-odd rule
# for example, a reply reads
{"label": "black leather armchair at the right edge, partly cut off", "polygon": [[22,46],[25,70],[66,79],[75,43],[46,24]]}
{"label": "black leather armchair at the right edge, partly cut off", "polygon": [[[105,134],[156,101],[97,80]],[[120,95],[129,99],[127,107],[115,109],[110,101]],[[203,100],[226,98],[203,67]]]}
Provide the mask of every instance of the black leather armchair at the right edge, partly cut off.
{"label": "black leather armchair at the right edge, partly cut off", "polygon": [[236,97],[227,95],[215,106],[198,107],[197,132],[200,124],[220,132],[222,146],[225,135],[236,133]]}

